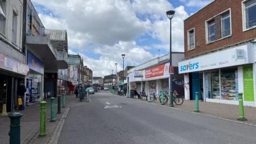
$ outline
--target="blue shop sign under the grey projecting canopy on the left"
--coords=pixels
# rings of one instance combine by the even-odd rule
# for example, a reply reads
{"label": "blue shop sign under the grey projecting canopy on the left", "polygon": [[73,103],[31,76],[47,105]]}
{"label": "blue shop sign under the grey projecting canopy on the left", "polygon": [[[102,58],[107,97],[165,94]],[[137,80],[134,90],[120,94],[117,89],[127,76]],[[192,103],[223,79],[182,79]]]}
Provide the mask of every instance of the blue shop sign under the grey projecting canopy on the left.
{"label": "blue shop sign under the grey projecting canopy on the left", "polygon": [[36,71],[37,73],[44,74],[44,64],[42,61],[38,60],[35,55],[33,55],[31,52],[27,52],[28,59],[28,67],[29,69],[32,69]]}

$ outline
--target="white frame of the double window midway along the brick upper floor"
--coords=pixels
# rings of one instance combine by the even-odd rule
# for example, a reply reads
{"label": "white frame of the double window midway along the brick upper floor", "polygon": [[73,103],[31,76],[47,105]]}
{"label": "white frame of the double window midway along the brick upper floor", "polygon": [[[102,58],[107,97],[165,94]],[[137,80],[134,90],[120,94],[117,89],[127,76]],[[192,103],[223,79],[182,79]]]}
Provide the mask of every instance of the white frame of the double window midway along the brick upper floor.
{"label": "white frame of the double window midway along the brick upper floor", "polygon": [[[247,0],[246,0],[247,1]],[[226,36],[226,37],[222,37],[222,20],[221,20],[221,14],[224,14],[226,12],[229,11],[229,17],[230,17],[230,35],[229,36]],[[214,20],[215,17],[217,17],[218,15],[220,15],[220,29],[221,29],[221,38],[219,39],[215,39],[215,41],[212,41],[212,42],[209,42],[208,41],[208,22],[211,21],[211,20]],[[214,22],[215,23],[215,22]],[[214,42],[217,42],[217,41],[220,41],[221,39],[225,39],[225,38],[228,38],[228,37],[231,37],[232,36],[232,17],[231,17],[231,8],[225,10],[225,11],[222,11],[216,15],[214,15],[213,17],[211,17],[210,19],[207,19],[205,21],[205,44],[211,44],[211,43],[214,43]]]}

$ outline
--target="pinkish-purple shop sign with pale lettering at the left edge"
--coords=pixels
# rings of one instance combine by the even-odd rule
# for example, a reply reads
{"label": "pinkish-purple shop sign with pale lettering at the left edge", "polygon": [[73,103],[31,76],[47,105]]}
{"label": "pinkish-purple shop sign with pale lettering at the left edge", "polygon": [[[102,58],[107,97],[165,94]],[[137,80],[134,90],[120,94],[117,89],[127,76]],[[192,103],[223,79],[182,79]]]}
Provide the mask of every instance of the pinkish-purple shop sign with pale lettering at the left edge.
{"label": "pinkish-purple shop sign with pale lettering at the left edge", "polygon": [[0,53],[0,68],[22,75],[29,74],[29,68],[27,65],[12,59],[3,53]]}

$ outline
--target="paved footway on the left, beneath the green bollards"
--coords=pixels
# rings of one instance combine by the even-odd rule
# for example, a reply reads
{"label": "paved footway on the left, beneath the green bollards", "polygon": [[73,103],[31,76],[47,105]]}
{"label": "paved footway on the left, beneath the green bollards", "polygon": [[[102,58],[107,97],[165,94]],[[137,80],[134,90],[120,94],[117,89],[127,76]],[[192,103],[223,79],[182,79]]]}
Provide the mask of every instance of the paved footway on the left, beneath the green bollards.
{"label": "paved footway on the left, beneath the green bollards", "polygon": [[[50,99],[45,100],[46,104],[46,137],[38,138],[39,131],[39,118],[40,112],[39,103],[30,103],[30,106],[25,107],[25,110],[15,111],[22,114],[20,119],[21,123],[21,143],[48,143],[52,138],[52,134],[54,133],[55,128],[58,123],[61,121],[63,113],[69,107],[85,105],[85,101],[78,102],[78,99],[75,98],[75,95],[66,95],[66,108],[61,108],[62,113],[57,114],[57,98],[55,98],[55,116],[56,122],[49,122],[51,116],[51,107],[50,107]],[[61,101],[62,102],[62,101]],[[62,103],[61,103],[62,106]],[[9,130],[10,130],[10,118],[8,116],[0,115],[0,143],[7,144],[9,143]]]}

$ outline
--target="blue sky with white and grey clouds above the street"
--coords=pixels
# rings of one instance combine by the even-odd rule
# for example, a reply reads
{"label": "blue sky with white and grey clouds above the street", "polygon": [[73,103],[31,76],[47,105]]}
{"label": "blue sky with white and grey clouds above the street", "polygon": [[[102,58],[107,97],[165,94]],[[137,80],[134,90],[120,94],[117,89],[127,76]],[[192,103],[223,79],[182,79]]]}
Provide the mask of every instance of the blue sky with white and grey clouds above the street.
{"label": "blue sky with white and grey clouds above the street", "polygon": [[183,50],[183,20],[212,0],[31,0],[45,28],[67,29],[69,54],[82,55],[93,76],[111,74],[124,65]]}

